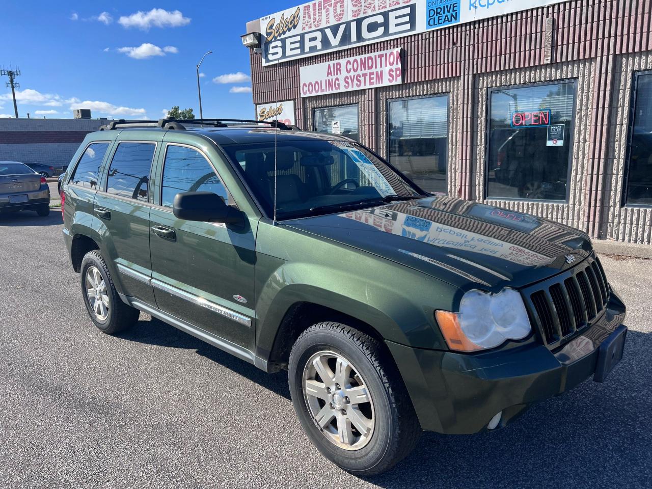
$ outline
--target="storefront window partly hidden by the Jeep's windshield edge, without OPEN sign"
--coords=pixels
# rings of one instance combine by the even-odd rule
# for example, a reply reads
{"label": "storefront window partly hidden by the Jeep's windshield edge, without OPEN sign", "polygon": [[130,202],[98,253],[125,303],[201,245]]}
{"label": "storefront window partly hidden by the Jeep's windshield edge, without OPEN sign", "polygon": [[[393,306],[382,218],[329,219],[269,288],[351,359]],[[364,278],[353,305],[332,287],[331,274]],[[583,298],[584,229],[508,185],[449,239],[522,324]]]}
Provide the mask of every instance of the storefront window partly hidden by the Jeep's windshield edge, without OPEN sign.
{"label": "storefront window partly hidden by the Jeep's windshield edge, without OPEN sign", "polygon": [[446,193],[448,95],[389,102],[389,162],[426,192]]}

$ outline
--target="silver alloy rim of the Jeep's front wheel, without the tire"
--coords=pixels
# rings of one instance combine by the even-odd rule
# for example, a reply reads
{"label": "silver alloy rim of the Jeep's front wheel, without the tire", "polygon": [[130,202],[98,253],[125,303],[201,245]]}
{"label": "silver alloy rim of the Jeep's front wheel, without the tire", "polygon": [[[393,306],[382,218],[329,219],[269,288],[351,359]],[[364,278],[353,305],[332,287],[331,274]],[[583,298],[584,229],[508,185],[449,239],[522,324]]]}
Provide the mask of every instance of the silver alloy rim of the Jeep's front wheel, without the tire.
{"label": "silver alloy rim of the Jeep's front wheel, without the tire", "polygon": [[319,351],[303,371],[308,411],[331,443],[359,450],[374,434],[374,404],[357,368],[340,353]]}

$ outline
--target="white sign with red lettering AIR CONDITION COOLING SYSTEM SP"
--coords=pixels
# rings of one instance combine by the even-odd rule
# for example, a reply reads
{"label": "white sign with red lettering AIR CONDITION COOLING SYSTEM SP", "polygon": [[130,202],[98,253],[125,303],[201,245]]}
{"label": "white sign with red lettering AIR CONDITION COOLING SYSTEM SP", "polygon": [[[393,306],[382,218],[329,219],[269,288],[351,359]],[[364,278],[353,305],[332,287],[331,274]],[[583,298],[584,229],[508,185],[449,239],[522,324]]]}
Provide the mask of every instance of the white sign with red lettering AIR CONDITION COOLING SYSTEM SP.
{"label": "white sign with red lettering AIR CONDITION COOLING SYSTEM SP", "polygon": [[400,48],[299,68],[301,96],[398,85],[403,80]]}

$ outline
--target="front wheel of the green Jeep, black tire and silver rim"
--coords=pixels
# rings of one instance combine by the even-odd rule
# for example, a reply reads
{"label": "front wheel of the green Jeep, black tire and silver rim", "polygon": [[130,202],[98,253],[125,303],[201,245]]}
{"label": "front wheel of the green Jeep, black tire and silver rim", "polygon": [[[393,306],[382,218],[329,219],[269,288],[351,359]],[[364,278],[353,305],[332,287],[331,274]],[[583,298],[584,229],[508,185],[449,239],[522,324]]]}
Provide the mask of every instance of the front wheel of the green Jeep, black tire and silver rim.
{"label": "front wheel of the green Jeep, black tire and silver rim", "polygon": [[421,426],[381,342],[340,323],[318,323],[295,342],[288,365],[304,431],[334,464],[355,475],[391,469],[415,447]]}

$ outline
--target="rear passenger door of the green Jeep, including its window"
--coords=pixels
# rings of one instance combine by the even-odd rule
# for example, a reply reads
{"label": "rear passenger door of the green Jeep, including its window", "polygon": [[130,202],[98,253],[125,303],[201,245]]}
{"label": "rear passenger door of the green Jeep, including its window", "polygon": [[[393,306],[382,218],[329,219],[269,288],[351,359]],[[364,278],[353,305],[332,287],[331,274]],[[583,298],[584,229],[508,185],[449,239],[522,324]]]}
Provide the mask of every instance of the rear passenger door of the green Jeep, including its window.
{"label": "rear passenger door of the green Jeep, including its window", "polygon": [[159,143],[121,140],[115,145],[102,189],[95,197],[95,217],[102,223],[102,254],[117,270],[119,290],[155,304],[149,256],[149,175]]}

